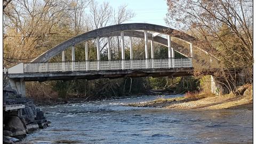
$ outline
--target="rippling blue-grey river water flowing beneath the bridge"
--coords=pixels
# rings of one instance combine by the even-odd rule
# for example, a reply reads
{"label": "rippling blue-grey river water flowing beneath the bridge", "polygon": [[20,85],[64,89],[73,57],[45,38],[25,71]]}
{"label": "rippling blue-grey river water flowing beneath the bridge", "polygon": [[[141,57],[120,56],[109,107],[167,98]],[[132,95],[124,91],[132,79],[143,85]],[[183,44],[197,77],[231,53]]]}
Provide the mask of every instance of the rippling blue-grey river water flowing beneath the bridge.
{"label": "rippling blue-grey river water flowing beneath the bridge", "polygon": [[43,106],[51,126],[28,134],[24,140],[34,143],[252,143],[252,110],[122,106],[155,98]]}

